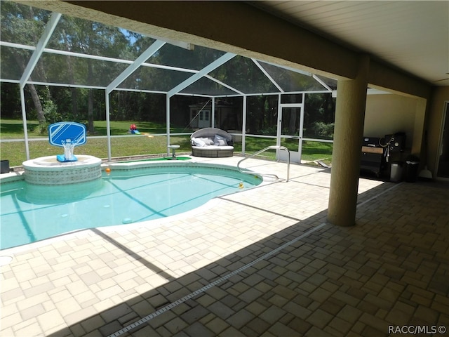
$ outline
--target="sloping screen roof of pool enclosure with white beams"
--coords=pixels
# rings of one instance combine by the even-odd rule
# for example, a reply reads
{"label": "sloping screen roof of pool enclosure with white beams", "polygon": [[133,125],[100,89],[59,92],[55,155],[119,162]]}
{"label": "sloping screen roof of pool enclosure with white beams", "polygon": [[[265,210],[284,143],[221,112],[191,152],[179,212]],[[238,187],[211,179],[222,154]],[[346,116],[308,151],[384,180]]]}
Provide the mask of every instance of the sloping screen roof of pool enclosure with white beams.
{"label": "sloping screen roof of pool enclosure with white beams", "polygon": [[[1,6],[1,11],[8,11],[8,6]],[[131,34],[121,28],[126,45],[133,46],[138,41],[140,53],[125,53],[120,49],[111,53],[110,48],[102,50],[98,46],[81,51],[61,39],[65,34],[62,29],[69,25],[71,18],[37,8],[34,11],[39,11],[34,20],[45,22],[34,41],[21,36],[20,29],[7,31],[8,25],[1,26],[1,81],[18,83],[21,87],[25,84],[71,86],[105,89],[107,93],[113,90],[166,93],[168,97],[330,92],[337,85],[335,80],[302,70],[202,46]],[[2,18],[6,14],[11,15],[2,13]],[[21,15],[13,15],[14,20],[24,20]],[[88,52],[93,49],[95,52]],[[62,71],[69,63],[72,72]]]}

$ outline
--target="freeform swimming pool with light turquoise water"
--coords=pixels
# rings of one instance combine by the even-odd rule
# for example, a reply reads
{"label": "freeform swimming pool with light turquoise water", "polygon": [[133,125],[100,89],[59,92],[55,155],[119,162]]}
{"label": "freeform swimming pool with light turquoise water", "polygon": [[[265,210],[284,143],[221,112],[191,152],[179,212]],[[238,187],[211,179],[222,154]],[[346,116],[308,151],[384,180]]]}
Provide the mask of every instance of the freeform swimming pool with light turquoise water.
{"label": "freeform swimming pool with light turquoise water", "polygon": [[1,184],[0,249],[92,227],[139,223],[195,209],[262,183],[257,175],[211,164],[111,165],[86,183]]}

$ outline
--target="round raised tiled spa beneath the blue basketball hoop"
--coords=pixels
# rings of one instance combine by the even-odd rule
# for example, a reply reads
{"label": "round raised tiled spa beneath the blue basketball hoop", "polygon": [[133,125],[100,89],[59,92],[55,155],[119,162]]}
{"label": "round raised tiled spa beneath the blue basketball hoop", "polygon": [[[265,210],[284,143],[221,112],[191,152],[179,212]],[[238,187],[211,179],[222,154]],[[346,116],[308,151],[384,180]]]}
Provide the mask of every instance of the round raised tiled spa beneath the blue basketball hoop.
{"label": "round raised tiled spa beneath the blue basketball hoop", "polygon": [[56,156],[39,157],[22,163],[25,181],[35,185],[67,185],[101,177],[101,159],[77,155],[76,161],[60,162]]}

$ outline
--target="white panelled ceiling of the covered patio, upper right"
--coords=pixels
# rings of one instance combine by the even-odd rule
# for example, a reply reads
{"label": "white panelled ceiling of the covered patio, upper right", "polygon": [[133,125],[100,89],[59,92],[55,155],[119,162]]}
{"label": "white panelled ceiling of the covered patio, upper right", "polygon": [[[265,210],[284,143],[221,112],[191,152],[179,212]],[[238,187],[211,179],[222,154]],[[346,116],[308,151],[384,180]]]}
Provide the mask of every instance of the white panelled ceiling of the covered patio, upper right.
{"label": "white panelled ceiling of the covered patio, upper right", "polygon": [[435,86],[449,85],[449,1],[251,1]]}

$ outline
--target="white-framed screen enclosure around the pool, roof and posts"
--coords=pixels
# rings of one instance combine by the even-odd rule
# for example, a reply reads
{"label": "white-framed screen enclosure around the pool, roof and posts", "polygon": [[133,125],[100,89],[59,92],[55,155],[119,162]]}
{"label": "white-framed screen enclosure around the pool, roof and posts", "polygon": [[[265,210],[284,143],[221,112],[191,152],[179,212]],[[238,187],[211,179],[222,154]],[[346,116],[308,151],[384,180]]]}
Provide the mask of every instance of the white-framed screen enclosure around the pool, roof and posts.
{"label": "white-framed screen enclosure around the pool, roof and posts", "polygon": [[[302,142],[332,142],[331,133],[323,135],[305,128],[312,122],[306,123],[304,114],[315,124],[319,122],[319,114],[311,117],[314,111],[307,111],[307,95],[326,94],[332,100],[337,86],[334,79],[10,1],[2,1],[1,23],[1,81],[20,86],[27,159],[30,107],[25,104],[25,88],[30,85],[104,91],[109,161],[111,98],[125,91],[162,95],[159,111],[150,114],[165,115],[166,130],[157,134],[166,136],[167,145],[174,134],[189,135],[195,128],[215,126],[241,136],[243,154],[248,137],[272,138],[276,145],[293,140],[293,161],[300,162]],[[197,103],[175,110],[173,100],[180,97],[195,97]],[[267,98],[263,108],[270,114],[269,132],[252,125],[260,124],[255,110],[261,107],[251,103],[260,97]],[[225,125],[216,109],[229,100],[234,102],[229,112],[234,117]],[[203,114],[206,111],[208,114]],[[208,124],[196,122],[206,117]],[[185,128],[173,131],[173,124],[180,119]]]}

